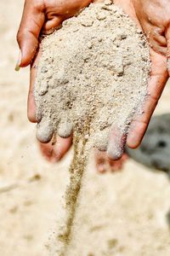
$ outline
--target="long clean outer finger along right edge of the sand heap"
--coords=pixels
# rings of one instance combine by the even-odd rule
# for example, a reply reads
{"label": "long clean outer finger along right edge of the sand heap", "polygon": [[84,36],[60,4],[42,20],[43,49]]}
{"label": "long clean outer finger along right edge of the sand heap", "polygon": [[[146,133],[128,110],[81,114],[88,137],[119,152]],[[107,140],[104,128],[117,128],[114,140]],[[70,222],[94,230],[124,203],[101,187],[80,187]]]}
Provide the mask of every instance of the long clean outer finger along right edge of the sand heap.
{"label": "long clean outer finger along right edge of the sand heap", "polygon": [[152,61],[150,80],[148,85],[148,95],[144,102],[143,113],[135,116],[130,125],[127,135],[127,146],[137,148],[144,137],[144,132],[150,121],[150,117],[156,108],[162,90],[167,82],[167,61],[166,57],[157,54],[150,49],[150,58]]}

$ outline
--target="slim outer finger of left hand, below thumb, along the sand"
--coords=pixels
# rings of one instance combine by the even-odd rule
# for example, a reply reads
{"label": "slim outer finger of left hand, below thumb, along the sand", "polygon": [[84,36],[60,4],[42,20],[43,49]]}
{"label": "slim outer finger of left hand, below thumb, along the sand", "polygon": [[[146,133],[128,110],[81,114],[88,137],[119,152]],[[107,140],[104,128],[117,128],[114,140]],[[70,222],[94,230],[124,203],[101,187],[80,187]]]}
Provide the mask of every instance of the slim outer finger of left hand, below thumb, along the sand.
{"label": "slim outer finger of left hand, below thumb, along the sand", "polygon": [[36,102],[34,98],[34,84],[36,81],[37,67],[38,67],[40,56],[41,56],[41,49],[38,50],[37,55],[31,65],[30,89],[28,92],[28,102],[27,102],[27,116],[28,116],[28,119],[31,121],[31,123],[37,123],[37,121],[41,120],[41,117],[37,119]]}

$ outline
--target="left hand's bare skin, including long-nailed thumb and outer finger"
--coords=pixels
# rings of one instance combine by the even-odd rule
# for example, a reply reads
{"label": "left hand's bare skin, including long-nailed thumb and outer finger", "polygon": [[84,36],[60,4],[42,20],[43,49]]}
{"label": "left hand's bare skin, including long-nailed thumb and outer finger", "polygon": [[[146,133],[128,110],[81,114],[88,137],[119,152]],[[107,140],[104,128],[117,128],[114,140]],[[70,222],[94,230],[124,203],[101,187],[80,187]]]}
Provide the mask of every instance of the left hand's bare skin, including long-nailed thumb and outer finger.
{"label": "left hand's bare skin, including long-nailed thumb and outer finger", "polygon": [[[36,123],[36,104],[33,96],[33,86],[37,73],[39,36],[48,34],[59,26],[63,20],[76,15],[80,9],[89,3],[100,0],[26,0],[17,40],[20,46],[20,58],[16,70],[31,64],[30,90],[28,94],[28,119]],[[42,154],[49,161],[60,160],[71,147],[72,138],[57,137],[57,143],[39,143]]]}

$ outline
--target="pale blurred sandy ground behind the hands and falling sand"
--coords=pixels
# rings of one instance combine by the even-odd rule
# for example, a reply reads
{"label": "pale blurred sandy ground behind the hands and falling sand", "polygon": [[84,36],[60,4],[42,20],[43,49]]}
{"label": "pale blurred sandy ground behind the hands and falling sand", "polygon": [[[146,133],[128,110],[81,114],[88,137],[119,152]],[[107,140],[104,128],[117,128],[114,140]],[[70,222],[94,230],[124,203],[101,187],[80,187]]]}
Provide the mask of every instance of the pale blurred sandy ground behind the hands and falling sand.
{"label": "pale blurred sandy ground behind the hands and falling sand", "polygon": [[[48,164],[37,148],[35,125],[26,119],[29,69],[14,72],[22,6],[22,0],[0,3],[0,255],[48,256],[45,245],[54,232],[71,152],[58,165]],[[170,111],[168,87],[156,113]],[[170,183],[164,173],[127,160],[122,172],[99,176],[92,158],[82,189],[84,212],[77,214],[69,255],[170,255]]]}

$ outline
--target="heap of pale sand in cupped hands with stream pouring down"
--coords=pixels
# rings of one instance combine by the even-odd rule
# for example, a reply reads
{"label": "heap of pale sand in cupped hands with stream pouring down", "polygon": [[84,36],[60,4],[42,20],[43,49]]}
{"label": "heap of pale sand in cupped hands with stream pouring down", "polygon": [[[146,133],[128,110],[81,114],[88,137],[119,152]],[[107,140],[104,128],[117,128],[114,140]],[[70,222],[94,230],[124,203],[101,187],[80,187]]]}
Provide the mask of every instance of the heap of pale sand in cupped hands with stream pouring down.
{"label": "heap of pale sand in cupped hands with stream pouring down", "polygon": [[55,133],[69,137],[74,132],[75,146],[55,234],[58,245],[52,249],[57,255],[67,255],[71,242],[89,148],[122,153],[108,147],[109,136],[111,131],[127,133],[134,113],[142,110],[149,72],[143,33],[111,1],[91,4],[42,40],[35,86],[37,137],[48,142]]}

